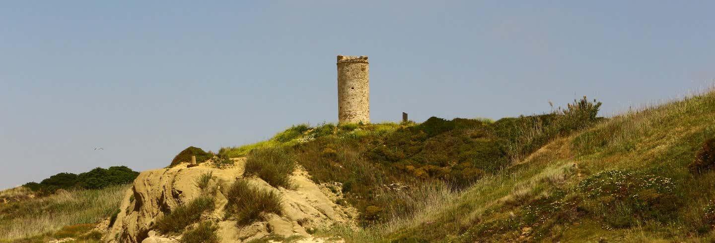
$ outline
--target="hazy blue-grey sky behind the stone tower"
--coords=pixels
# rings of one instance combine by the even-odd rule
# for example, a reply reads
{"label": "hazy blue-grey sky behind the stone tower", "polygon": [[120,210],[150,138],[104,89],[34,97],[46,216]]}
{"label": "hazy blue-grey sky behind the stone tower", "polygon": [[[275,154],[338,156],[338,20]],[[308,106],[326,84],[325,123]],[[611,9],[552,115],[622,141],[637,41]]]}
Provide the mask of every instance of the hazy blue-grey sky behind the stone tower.
{"label": "hazy blue-grey sky behind the stone tower", "polygon": [[338,54],[370,56],[373,122],[711,85],[715,1],[580,2],[6,1],[0,188],[335,122]]}

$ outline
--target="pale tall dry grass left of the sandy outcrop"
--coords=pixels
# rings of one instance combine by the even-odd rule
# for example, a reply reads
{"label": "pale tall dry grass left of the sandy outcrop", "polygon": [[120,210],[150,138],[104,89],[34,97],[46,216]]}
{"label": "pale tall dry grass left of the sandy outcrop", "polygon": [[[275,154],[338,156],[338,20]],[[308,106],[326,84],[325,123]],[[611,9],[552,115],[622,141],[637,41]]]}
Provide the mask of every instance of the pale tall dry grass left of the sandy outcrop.
{"label": "pale tall dry grass left of the sandy outcrop", "polygon": [[129,187],[60,191],[47,197],[0,204],[0,240],[54,232],[66,225],[97,223],[119,208]]}

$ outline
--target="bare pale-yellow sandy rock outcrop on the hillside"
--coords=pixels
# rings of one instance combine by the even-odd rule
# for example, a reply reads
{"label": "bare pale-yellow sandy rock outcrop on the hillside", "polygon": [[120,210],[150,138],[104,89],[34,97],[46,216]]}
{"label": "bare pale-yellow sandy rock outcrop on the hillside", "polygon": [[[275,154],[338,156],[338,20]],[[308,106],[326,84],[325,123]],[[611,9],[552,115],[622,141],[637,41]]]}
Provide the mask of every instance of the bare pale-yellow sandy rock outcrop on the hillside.
{"label": "bare pale-yellow sandy rock outcrop on the hillside", "polygon": [[[235,165],[223,169],[215,168],[212,162],[187,167],[187,163],[172,168],[147,170],[134,180],[134,186],[124,196],[121,212],[107,235],[107,242],[174,242],[179,235],[160,235],[152,228],[157,219],[168,214],[177,206],[190,202],[202,195],[196,180],[200,175],[211,172],[211,186],[215,193],[215,210],[201,215],[202,221],[215,222],[217,233],[223,242],[245,242],[269,235],[310,237],[309,232],[330,227],[335,222],[354,224],[357,211],[335,204],[335,195],[321,188],[309,179],[307,172],[295,170],[290,175],[295,188],[275,188],[257,177],[250,177],[250,183],[261,190],[272,190],[282,198],[282,215],[263,214],[261,220],[245,227],[238,227],[235,221],[225,219],[227,190],[237,178],[243,177],[245,160],[235,160]],[[326,195],[327,194],[327,195]]]}

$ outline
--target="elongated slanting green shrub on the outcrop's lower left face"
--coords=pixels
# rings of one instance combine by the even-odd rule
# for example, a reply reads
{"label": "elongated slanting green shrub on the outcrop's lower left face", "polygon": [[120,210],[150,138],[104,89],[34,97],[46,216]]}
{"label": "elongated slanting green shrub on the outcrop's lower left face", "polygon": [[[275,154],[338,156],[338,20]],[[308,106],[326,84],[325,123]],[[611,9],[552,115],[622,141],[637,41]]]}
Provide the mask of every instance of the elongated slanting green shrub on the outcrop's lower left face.
{"label": "elongated slanting green shrub on the outcrop's lower left face", "polygon": [[157,219],[154,227],[164,234],[181,232],[189,224],[198,222],[201,214],[214,209],[214,198],[197,197],[186,205],[179,205],[169,214]]}

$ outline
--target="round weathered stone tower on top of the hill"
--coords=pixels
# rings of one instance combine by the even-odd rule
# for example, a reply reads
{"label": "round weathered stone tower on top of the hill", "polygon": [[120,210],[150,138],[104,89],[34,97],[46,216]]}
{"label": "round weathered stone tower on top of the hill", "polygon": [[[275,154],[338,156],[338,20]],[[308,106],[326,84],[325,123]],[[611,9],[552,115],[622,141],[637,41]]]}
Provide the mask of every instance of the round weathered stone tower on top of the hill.
{"label": "round weathered stone tower on top of the hill", "polygon": [[370,123],[368,56],[337,56],[338,123]]}

